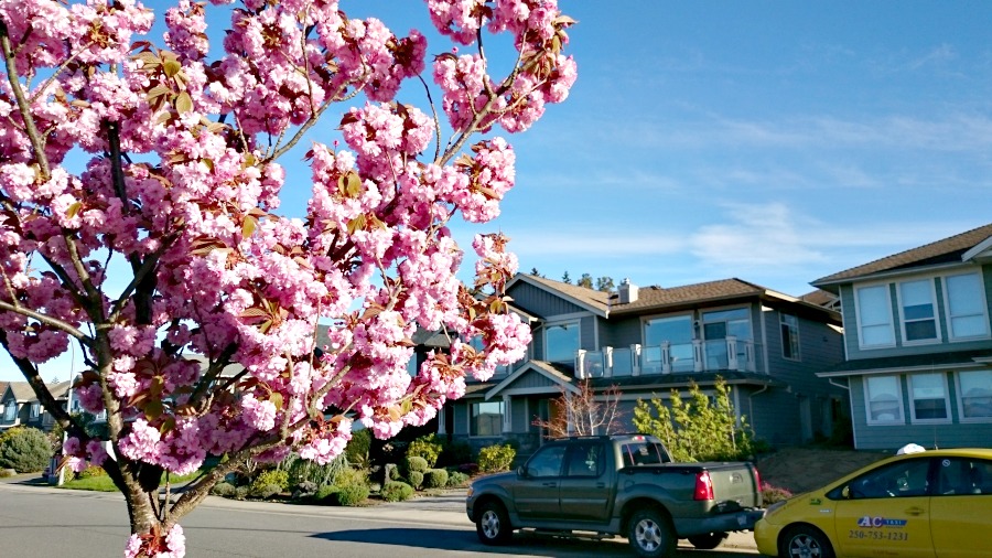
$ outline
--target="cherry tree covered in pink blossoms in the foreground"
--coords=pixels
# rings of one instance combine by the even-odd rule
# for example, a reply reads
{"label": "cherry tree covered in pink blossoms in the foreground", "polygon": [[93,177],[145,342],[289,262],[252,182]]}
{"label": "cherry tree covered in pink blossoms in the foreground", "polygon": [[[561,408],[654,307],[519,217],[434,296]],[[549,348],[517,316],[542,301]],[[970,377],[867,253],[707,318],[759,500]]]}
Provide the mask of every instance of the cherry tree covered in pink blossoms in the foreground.
{"label": "cherry tree covered in pink blossoms in the foreground", "polygon": [[[353,421],[380,438],[422,425],[466,374],[524,356],[507,239],[476,235],[464,285],[449,225],[498,215],[514,151],[496,132],[565,99],[573,21],[554,0],[427,7],[456,47],[424,78],[423,34],[335,0],[181,0],[163,41],[134,0],[0,0],[0,345],[69,433],[68,465],[101,464],[123,493],[126,556],[183,556],[177,522],[236,463],[327,462]],[[229,13],[226,34],[208,33],[212,10]],[[483,39],[498,33],[516,53],[496,75]],[[397,100],[403,83],[428,111]],[[321,132],[343,144],[313,142],[309,175],[288,176],[280,160]],[[305,215],[281,215],[283,190],[304,185]],[[315,347],[322,319],[331,342]],[[411,377],[418,326],[452,347]],[[482,350],[460,341],[473,337]],[[71,344],[110,455],[40,376]],[[217,455],[160,497],[163,473]]]}

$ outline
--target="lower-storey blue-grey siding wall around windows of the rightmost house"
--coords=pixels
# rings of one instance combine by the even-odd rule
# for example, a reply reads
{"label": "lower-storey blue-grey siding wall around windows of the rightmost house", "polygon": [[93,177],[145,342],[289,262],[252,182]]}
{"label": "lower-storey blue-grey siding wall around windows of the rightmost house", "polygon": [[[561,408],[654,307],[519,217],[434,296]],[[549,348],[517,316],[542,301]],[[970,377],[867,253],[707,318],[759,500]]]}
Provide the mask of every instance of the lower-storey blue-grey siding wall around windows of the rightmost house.
{"label": "lower-storey blue-grey siding wall around windows of the rightmost house", "polygon": [[863,376],[852,376],[851,414],[854,426],[854,448],[859,450],[897,450],[907,443],[925,448],[989,447],[992,440],[992,421],[960,422],[956,384],[948,377],[951,421],[947,423],[916,423],[910,420],[912,404],[906,375],[899,377],[903,394],[903,422],[897,425],[869,425],[864,400]]}

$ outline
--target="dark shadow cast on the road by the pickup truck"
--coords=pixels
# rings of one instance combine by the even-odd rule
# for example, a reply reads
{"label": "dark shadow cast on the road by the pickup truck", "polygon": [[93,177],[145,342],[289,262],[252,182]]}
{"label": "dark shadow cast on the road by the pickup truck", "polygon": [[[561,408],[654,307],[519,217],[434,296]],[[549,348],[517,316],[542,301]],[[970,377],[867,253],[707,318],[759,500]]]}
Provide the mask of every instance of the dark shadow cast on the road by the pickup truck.
{"label": "dark shadow cast on the road by the pickup truck", "polygon": [[[474,554],[513,555],[513,556],[548,556],[597,558],[632,558],[636,556],[624,538],[593,540],[581,538],[558,538],[532,533],[516,533],[507,546],[485,546],[478,541],[475,533],[465,529],[436,528],[381,528],[352,529],[312,535],[333,541],[366,543],[370,545],[392,545],[397,547],[429,548],[436,550],[462,550]],[[755,552],[734,549],[693,550],[691,547],[679,547],[679,557],[692,558],[753,558]]]}

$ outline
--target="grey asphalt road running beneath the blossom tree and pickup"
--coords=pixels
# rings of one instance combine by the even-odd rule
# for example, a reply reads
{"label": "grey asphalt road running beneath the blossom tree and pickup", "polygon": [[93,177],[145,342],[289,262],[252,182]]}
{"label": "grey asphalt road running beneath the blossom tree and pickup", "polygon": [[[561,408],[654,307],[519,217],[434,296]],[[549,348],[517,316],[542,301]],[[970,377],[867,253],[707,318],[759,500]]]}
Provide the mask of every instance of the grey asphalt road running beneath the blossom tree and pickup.
{"label": "grey asphalt road running beneath the blossom tree and pickup", "polygon": [[[294,506],[211,497],[181,522],[191,558],[448,556],[623,557],[625,539],[517,534],[507,547],[478,543],[459,495],[366,508]],[[463,504],[461,504],[463,505]],[[118,494],[0,484],[0,557],[121,556],[127,512]],[[680,549],[679,557],[755,556],[753,549]]]}

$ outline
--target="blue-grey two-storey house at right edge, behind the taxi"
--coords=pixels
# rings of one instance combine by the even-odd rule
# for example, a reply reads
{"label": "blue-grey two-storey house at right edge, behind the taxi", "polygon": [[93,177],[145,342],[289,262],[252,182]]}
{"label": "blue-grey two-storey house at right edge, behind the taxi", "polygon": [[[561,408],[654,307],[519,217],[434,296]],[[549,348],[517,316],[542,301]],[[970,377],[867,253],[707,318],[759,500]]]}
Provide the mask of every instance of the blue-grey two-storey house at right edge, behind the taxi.
{"label": "blue-grey two-storey house at right edge, behind the taxi", "polygon": [[992,224],[812,282],[837,294],[856,449],[992,443]]}

